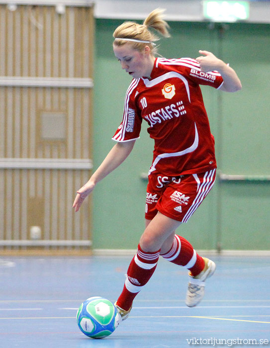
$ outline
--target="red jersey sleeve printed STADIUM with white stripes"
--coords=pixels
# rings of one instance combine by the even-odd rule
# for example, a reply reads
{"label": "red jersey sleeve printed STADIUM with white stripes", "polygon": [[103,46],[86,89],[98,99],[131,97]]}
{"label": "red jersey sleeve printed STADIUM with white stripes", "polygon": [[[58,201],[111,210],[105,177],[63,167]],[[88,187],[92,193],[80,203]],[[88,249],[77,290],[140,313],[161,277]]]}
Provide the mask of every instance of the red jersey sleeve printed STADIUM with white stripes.
{"label": "red jersey sleeve printed STADIUM with white stripes", "polygon": [[117,142],[125,142],[140,138],[142,117],[135,103],[135,93],[138,82],[139,79],[133,80],[126,92],[123,120],[112,137],[112,140]]}

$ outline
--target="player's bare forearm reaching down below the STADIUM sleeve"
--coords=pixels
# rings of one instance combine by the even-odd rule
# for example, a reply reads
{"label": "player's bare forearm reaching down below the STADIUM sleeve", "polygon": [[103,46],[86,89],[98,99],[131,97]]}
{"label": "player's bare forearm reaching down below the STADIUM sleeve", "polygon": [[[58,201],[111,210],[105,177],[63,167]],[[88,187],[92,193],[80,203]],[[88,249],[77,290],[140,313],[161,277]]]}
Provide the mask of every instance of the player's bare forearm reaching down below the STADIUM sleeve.
{"label": "player's bare forearm reaching down below the STADIUM sleeve", "polygon": [[130,141],[127,143],[117,143],[114,145],[101,165],[97,168],[94,174],[92,174],[90,181],[93,184],[96,184],[119,167],[132,151],[134,143],[135,141]]}

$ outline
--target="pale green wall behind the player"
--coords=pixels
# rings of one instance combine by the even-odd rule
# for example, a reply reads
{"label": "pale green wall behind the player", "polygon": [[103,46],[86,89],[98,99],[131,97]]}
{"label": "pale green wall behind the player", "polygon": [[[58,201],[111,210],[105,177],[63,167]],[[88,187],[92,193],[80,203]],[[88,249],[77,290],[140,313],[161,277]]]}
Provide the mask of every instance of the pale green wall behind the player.
{"label": "pale green wall behind the player", "polygon": [[[112,51],[112,33],[122,20],[96,20],[94,67],[94,169],[115,144],[130,77]],[[196,58],[209,50],[237,71],[243,89],[224,93],[202,87],[218,169],[225,174],[270,174],[270,25],[170,22],[172,37],[160,40],[166,58]],[[140,178],[152,161],[146,132],[129,158],[96,186],[92,195],[93,249],[135,249],[144,229],[147,182]],[[178,233],[196,249],[270,248],[270,184],[226,182],[214,188]]]}

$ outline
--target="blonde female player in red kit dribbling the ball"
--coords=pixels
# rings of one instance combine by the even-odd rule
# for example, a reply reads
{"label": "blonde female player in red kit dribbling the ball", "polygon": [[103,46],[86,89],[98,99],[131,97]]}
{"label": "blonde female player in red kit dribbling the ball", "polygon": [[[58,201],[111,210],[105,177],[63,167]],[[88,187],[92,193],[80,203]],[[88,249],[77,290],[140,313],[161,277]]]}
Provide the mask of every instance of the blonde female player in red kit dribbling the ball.
{"label": "blonde female player in red kit dribbling the ball", "polygon": [[199,256],[175,230],[187,222],[212,188],[216,174],[214,138],[199,85],[234,92],[241,89],[235,71],[207,51],[196,59],[156,58],[155,29],[169,37],[163,10],[152,11],[142,25],[124,22],[113,33],[116,58],[133,79],[127,89],[123,121],[113,146],[89,181],[77,191],[78,211],[95,185],[117,168],[139,138],[141,123],[155,140],[146,197],[146,228],[115,305],[126,319],[138,292],[152,276],[161,255],[189,270],[186,305],[196,306],[215,263]]}

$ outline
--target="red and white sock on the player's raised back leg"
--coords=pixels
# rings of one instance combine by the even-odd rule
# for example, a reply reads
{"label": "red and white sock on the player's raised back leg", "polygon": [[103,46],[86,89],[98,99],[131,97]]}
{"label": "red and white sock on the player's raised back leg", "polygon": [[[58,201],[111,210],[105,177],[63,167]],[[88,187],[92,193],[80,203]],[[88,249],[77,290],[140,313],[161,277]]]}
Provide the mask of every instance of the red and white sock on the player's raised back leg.
{"label": "red and white sock on the player's raised back leg", "polygon": [[178,235],[175,235],[173,246],[169,252],[161,256],[168,261],[189,269],[193,276],[198,275],[204,268],[202,257],[195,252],[186,239]]}

